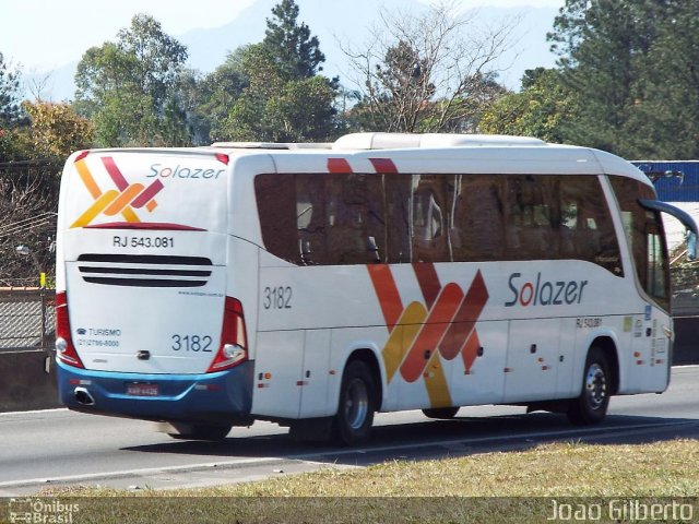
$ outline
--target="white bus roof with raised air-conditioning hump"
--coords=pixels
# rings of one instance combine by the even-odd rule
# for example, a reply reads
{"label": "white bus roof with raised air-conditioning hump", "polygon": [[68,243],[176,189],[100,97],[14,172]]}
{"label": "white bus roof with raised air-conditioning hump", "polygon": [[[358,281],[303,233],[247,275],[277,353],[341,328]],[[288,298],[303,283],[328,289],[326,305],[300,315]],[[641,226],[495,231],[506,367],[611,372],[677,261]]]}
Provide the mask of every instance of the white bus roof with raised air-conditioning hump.
{"label": "white bus roof with raised air-conditioning hump", "polygon": [[334,143],[216,142],[201,147],[95,150],[94,153],[117,151],[168,156],[226,155],[232,159],[264,155],[272,157],[279,172],[317,171],[321,158],[356,158],[362,166],[368,165],[368,159],[383,157],[395,164],[398,172],[437,174],[458,169],[464,174],[605,174],[633,178],[652,187],[640,169],[618,156],[529,136],[377,132],[346,134]]}

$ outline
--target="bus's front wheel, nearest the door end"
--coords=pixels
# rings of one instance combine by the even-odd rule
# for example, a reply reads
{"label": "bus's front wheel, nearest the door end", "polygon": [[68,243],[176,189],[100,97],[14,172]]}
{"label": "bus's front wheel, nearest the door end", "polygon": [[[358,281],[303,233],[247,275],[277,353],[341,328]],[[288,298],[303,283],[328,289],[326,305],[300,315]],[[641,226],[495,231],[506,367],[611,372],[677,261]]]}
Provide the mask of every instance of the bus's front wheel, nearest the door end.
{"label": "bus's front wheel, nearest the door end", "polygon": [[602,348],[592,346],[585,359],[582,391],[570,401],[568,419],[577,426],[600,424],[607,414],[611,393],[609,362]]}

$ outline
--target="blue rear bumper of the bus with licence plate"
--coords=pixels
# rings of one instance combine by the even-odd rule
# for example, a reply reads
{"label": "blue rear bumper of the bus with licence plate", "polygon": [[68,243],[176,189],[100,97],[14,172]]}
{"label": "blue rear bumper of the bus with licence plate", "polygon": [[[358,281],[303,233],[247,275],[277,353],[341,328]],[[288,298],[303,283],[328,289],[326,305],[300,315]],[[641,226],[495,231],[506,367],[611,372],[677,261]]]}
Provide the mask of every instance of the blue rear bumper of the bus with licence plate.
{"label": "blue rear bumper of the bus with licence plate", "polygon": [[[58,395],[70,409],[145,420],[240,424],[252,406],[253,362],[205,374],[92,371],[57,361]],[[127,393],[130,384],[157,389],[154,396]]]}

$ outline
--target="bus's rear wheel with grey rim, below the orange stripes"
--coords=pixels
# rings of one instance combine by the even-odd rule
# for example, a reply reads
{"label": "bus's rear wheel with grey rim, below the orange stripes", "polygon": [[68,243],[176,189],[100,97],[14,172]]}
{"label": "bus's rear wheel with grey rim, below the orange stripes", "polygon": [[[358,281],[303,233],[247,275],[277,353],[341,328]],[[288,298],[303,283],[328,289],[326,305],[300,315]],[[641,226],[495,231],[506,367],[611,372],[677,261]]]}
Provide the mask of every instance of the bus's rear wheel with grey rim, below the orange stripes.
{"label": "bus's rear wheel with grey rim, below the orange stripes", "polygon": [[366,441],[376,410],[376,384],[362,360],[352,360],[342,374],[340,404],[333,419],[334,438],[344,445]]}

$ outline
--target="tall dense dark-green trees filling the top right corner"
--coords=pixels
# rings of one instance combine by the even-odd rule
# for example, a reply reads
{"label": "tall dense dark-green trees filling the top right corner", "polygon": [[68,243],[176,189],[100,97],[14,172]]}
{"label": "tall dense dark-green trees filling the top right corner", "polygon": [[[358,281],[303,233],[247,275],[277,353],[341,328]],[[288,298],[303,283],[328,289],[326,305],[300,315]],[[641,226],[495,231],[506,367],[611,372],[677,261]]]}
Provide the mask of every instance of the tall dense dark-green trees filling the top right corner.
{"label": "tall dense dark-green trees filling the top right corner", "polygon": [[696,1],[567,0],[548,38],[580,100],[572,142],[636,158],[699,155]]}

